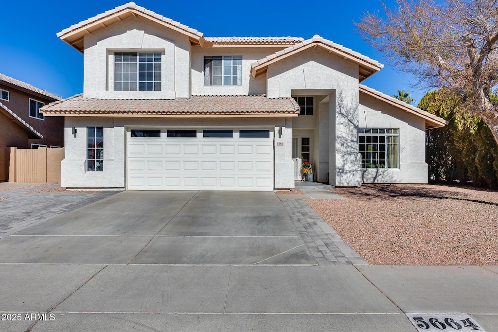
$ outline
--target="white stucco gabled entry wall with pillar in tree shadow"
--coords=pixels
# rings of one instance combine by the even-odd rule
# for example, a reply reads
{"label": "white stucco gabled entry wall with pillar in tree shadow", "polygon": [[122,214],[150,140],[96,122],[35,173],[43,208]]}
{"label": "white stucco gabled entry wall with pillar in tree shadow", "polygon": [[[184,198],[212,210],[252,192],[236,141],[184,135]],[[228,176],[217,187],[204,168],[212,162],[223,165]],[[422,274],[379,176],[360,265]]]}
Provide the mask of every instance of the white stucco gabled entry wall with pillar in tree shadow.
{"label": "white stucco gabled entry wall with pillar in tree shadow", "polygon": [[333,91],[329,95],[329,183],[361,185],[358,65],[320,48],[310,48],[268,66],[267,97],[290,97],[296,92],[303,94],[303,90],[313,90],[314,94]]}

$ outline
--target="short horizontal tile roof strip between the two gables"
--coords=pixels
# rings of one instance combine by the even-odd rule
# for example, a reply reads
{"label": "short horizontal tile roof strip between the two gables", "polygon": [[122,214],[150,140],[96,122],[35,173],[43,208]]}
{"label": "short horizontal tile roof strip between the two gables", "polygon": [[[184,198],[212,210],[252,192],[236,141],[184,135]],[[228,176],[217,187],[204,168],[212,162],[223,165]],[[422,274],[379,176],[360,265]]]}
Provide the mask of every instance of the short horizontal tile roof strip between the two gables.
{"label": "short horizontal tile roof strip between the two gables", "polygon": [[237,47],[237,46],[292,46],[304,41],[302,37],[205,37],[205,47]]}

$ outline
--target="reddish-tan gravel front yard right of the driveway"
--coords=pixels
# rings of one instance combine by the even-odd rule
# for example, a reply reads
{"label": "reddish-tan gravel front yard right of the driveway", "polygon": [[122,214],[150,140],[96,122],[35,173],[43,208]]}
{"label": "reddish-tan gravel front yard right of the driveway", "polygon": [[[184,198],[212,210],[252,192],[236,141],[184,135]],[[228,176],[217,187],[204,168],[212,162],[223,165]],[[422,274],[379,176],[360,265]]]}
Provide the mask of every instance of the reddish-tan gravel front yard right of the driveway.
{"label": "reddish-tan gravel front yard right of the driveway", "polygon": [[306,202],[372,265],[498,265],[498,192],[438,185],[336,188]]}

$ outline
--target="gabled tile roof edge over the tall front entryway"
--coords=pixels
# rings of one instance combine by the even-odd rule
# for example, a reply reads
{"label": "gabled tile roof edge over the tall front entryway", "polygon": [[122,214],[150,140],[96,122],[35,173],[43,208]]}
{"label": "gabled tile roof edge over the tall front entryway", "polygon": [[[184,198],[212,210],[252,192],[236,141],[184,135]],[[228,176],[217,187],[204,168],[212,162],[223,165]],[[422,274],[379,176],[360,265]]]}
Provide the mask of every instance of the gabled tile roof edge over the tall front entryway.
{"label": "gabled tile roof edge over the tall front entryway", "polygon": [[294,55],[311,47],[313,47],[313,49],[315,49],[316,47],[320,47],[328,51],[329,54],[334,54],[343,58],[344,60],[350,60],[353,61],[354,63],[357,63],[360,66],[358,74],[359,76],[358,79],[360,80],[360,82],[365,80],[367,77],[371,76],[372,74],[378,72],[380,69],[384,67],[383,64],[365,55],[355,52],[350,48],[346,48],[330,40],[324,39],[319,35],[314,35],[313,38],[289,46],[281,51],[268,55],[267,57],[252,63],[251,75],[252,77],[255,78],[260,74],[264,74],[268,69],[268,65],[273,64],[282,59],[285,59],[288,56]]}

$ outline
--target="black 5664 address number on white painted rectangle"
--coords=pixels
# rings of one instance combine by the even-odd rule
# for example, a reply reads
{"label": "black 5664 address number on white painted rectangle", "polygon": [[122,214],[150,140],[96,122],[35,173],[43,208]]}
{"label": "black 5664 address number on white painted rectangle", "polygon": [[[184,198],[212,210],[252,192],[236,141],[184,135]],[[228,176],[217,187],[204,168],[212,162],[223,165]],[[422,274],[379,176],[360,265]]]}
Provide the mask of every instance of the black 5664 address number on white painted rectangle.
{"label": "black 5664 address number on white painted rectangle", "polygon": [[484,329],[465,314],[406,314],[418,331],[483,331]]}

